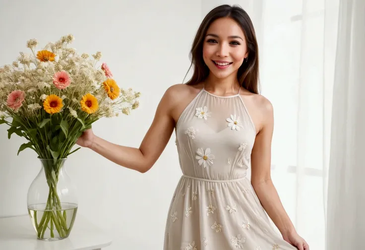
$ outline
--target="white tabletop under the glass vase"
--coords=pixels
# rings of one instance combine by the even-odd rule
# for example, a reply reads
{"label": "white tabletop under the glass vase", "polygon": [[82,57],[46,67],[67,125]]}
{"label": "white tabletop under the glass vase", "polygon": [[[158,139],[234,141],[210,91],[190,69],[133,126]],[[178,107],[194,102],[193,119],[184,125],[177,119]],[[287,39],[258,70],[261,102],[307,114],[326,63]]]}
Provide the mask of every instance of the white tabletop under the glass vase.
{"label": "white tabletop under the glass vase", "polygon": [[77,214],[68,238],[37,240],[29,215],[0,218],[0,250],[96,250],[112,244],[100,228]]}

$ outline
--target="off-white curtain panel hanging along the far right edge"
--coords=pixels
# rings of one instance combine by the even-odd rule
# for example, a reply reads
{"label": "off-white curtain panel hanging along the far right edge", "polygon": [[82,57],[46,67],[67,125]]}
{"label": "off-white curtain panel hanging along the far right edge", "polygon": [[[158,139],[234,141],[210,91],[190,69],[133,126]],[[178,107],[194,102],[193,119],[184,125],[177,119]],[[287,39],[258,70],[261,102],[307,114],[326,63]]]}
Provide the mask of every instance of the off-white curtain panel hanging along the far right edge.
{"label": "off-white curtain panel hanging along the far right edge", "polygon": [[364,0],[340,0],[328,178],[328,250],[365,248],[364,13]]}

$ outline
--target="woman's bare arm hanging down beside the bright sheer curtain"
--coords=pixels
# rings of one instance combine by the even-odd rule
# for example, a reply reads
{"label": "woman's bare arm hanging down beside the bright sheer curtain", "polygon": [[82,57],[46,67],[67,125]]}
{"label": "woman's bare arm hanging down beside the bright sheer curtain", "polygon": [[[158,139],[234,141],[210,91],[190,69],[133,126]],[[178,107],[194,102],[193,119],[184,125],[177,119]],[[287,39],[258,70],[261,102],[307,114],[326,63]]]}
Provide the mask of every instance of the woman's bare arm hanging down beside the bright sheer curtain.
{"label": "woman's bare arm hanging down beside the bright sheer curtain", "polygon": [[295,232],[295,229],[270,176],[274,118],[272,105],[266,99],[262,104],[261,114],[262,127],[256,136],[251,153],[251,183],[263,208],[285,238]]}

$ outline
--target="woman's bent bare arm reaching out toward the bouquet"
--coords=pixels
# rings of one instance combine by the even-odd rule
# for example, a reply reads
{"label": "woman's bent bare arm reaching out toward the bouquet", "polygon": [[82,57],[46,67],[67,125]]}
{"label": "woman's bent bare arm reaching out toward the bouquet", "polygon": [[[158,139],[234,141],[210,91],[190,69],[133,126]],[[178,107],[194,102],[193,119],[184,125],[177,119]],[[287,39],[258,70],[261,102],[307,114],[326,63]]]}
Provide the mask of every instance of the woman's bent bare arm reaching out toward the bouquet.
{"label": "woman's bent bare arm reaching out toward the bouquet", "polygon": [[117,145],[97,136],[93,136],[88,147],[118,165],[141,173],[147,172],[162,154],[174,131],[175,121],[171,116],[173,94],[172,87],[162,97],[152,125],[139,148]]}

